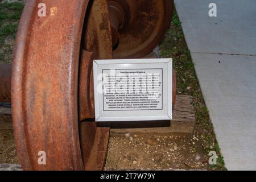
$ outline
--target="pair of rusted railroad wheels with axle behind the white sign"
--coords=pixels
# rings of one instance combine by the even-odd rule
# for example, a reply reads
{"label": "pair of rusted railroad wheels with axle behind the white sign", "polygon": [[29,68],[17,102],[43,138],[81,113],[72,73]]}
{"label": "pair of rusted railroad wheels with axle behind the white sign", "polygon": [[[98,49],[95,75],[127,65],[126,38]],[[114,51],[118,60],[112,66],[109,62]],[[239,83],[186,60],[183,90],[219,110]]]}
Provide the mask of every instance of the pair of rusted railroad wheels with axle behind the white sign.
{"label": "pair of rusted railroad wheels with axle behind the white sign", "polygon": [[[39,3],[46,4],[45,17],[38,16]],[[23,169],[104,167],[109,128],[92,119],[92,60],[149,53],[164,36],[172,6],[172,0],[27,0],[11,75]],[[45,165],[38,163],[40,151],[46,152]]]}

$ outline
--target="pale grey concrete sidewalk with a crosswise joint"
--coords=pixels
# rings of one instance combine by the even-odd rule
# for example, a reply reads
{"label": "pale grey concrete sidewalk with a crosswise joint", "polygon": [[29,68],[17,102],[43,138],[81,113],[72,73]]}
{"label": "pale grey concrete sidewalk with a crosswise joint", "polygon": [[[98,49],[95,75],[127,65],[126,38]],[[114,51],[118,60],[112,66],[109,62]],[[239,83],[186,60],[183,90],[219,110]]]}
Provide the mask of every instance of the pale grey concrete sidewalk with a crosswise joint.
{"label": "pale grey concrete sidewalk with a crosswise joint", "polygon": [[256,1],[175,4],[226,168],[256,170]]}

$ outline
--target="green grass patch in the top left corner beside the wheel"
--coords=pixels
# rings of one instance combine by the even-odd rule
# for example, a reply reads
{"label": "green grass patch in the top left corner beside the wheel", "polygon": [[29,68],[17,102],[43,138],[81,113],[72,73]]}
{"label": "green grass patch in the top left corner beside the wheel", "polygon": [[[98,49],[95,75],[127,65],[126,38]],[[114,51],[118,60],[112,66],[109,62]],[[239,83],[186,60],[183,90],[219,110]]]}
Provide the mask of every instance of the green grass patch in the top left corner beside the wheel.
{"label": "green grass patch in the top left corner beside the wheel", "polygon": [[11,63],[18,23],[24,4],[0,3],[0,63]]}

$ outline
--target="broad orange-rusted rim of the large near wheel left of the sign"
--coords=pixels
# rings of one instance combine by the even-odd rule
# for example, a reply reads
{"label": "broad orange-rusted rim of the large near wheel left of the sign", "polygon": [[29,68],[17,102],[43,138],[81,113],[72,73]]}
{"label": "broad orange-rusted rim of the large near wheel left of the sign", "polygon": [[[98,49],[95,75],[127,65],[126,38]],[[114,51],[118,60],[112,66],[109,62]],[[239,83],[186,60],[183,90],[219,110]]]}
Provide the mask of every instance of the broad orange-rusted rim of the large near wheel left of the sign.
{"label": "broad orange-rusted rim of the large near wheel left of the sign", "polygon": [[[46,17],[37,15],[41,2]],[[87,5],[88,0],[28,0],[24,7],[11,83],[16,147],[24,170],[104,166],[109,128],[79,122],[80,40]],[[85,59],[90,55],[86,52]],[[46,165],[39,165],[39,151],[46,152]]]}

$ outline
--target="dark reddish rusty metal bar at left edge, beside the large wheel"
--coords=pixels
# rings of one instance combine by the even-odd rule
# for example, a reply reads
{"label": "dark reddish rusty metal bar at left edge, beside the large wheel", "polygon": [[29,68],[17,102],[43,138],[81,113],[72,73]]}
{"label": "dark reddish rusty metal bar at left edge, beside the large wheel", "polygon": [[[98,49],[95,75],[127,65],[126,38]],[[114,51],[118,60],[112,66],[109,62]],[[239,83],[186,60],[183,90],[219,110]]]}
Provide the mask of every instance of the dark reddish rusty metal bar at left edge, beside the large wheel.
{"label": "dark reddish rusty metal bar at left edge, beside the large wheel", "polygon": [[0,64],[0,102],[11,102],[11,64]]}

